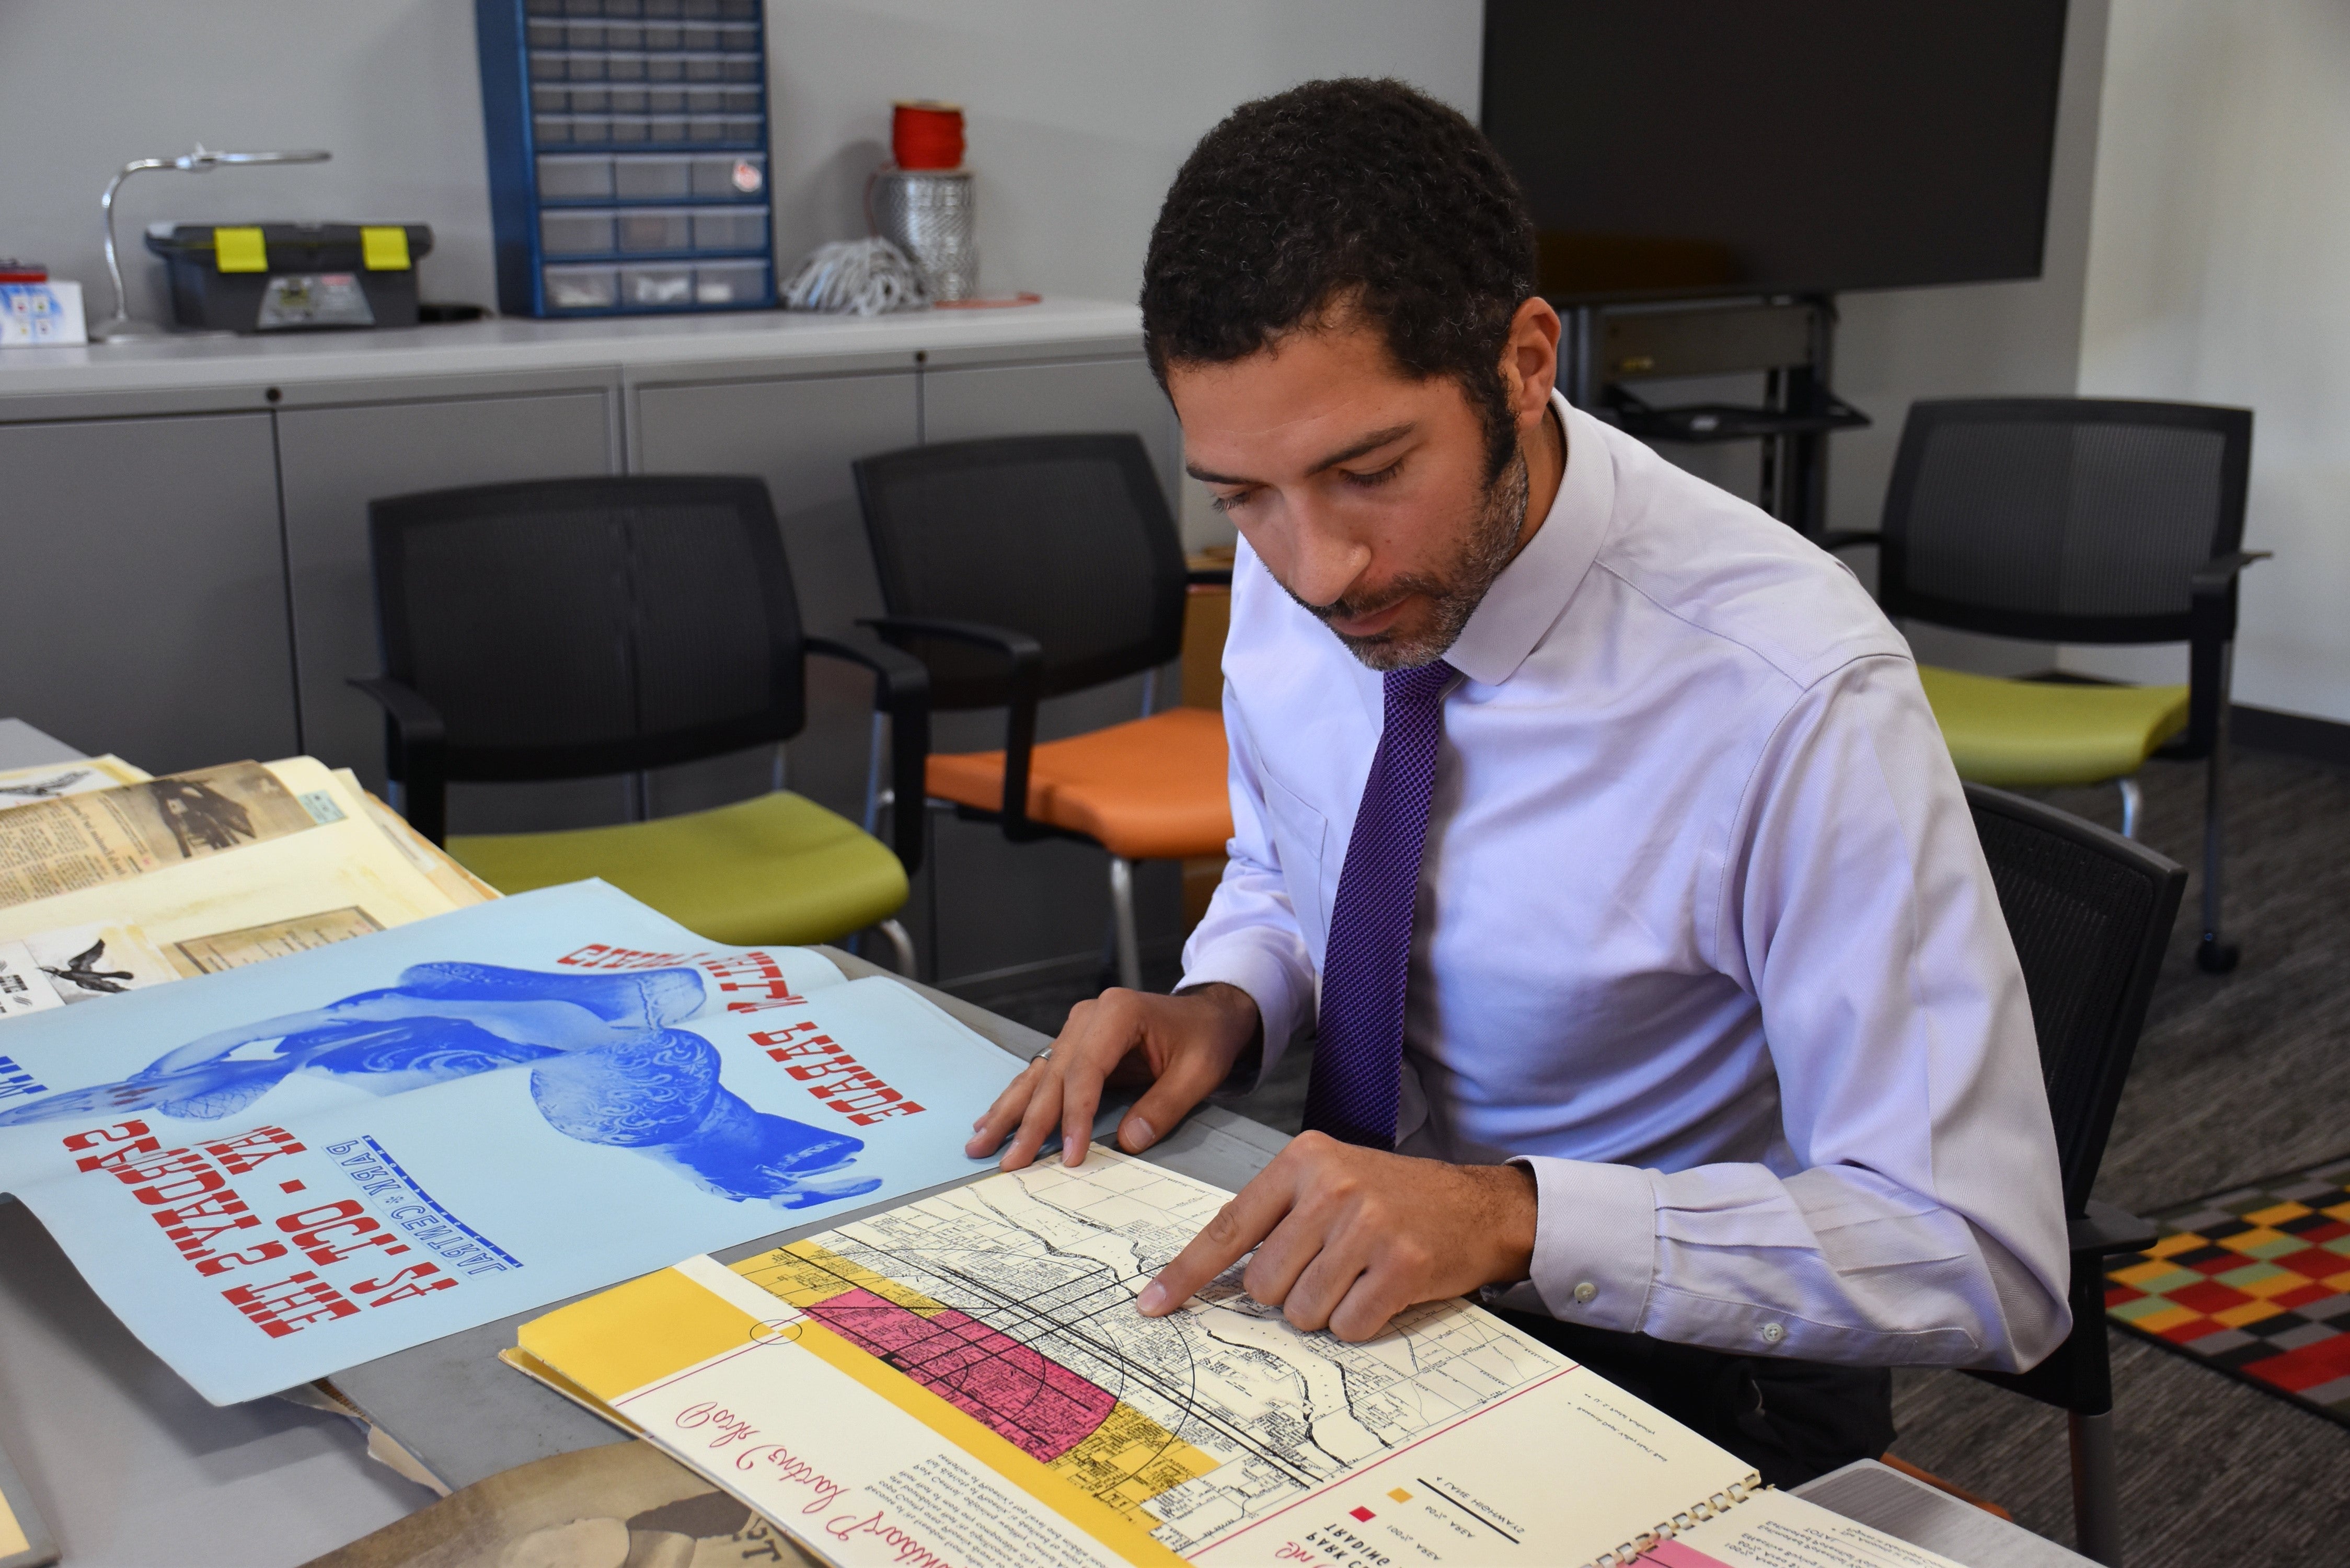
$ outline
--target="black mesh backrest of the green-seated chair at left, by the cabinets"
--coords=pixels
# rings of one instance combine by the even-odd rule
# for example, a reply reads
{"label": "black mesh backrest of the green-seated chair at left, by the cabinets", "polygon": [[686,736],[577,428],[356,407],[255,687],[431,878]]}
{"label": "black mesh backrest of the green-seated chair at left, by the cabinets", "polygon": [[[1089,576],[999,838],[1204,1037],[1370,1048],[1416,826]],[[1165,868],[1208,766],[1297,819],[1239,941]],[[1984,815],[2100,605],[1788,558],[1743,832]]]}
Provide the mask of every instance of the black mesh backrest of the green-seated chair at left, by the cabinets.
{"label": "black mesh backrest of the green-seated chair at left, by the cabinets", "polygon": [[529,480],[367,508],[383,672],[449,778],[580,778],[785,741],[801,628],[766,484]]}

